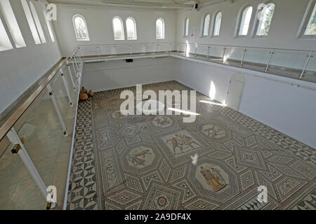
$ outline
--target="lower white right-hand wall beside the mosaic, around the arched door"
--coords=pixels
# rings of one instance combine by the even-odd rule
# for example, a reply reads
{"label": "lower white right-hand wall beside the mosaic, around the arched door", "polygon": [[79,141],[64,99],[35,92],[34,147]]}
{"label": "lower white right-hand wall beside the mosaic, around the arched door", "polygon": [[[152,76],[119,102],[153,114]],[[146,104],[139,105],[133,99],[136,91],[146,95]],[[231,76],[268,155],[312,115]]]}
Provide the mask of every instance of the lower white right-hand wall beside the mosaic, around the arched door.
{"label": "lower white right-hand wall beside the mosaic, around the arched door", "polygon": [[[227,96],[230,77],[240,71],[244,73],[245,83],[239,112],[316,148],[315,83],[190,60],[192,59],[178,59],[176,62],[175,79],[180,83],[209,95],[213,81],[216,87],[215,100],[223,103]],[[291,83],[300,87],[294,87]]]}

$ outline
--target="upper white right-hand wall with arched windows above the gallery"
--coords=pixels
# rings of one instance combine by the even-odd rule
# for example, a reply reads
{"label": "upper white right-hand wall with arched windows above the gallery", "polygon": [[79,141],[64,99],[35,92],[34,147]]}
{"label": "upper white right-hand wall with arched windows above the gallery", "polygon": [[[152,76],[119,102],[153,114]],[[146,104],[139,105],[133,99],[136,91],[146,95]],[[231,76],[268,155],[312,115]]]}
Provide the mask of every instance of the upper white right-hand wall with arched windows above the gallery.
{"label": "upper white right-hand wall with arched windows above the gallery", "polygon": [[[219,45],[242,45],[263,48],[287,48],[297,50],[316,50],[315,40],[297,39],[296,34],[301,25],[303,15],[310,0],[275,0],[275,13],[272,18],[269,35],[264,38],[234,38],[235,27],[237,23],[237,15],[243,6],[249,4],[253,7],[251,25],[256,18],[256,9],[259,3],[264,0],[234,0],[232,4],[228,2],[206,6],[197,10],[178,11],[177,13],[177,41],[193,42],[193,43],[211,43]],[[220,35],[217,38],[200,38],[200,29],[202,18],[206,13],[211,14],[211,18],[218,10],[222,11],[222,23],[220,26]],[[190,33],[196,30],[195,37],[184,38],[183,27],[185,18],[190,18]],[[190,36],[190,35],[189,35]]]}

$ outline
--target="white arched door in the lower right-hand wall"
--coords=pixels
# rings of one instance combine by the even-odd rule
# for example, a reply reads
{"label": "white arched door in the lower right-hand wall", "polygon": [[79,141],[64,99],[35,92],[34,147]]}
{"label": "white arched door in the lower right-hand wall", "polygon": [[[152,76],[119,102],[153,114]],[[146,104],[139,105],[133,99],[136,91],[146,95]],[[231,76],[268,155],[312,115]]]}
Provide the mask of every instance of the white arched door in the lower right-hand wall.
{"label": "white arched door in the lower right-hand wall", "polygon": [[242,90],[244,90],[244,82],[235,79],[230,80],[226,104],[235,111],[238,111],[239,109],[240,100],[242,98]]}

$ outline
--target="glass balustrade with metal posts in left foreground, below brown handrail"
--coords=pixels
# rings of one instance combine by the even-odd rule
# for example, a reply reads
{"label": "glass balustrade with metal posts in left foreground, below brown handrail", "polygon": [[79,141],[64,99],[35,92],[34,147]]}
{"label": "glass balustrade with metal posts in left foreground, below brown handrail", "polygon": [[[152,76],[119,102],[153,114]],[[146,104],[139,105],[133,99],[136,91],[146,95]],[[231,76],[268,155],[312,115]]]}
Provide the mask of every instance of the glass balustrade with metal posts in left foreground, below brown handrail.
{"label": "glass balustrade with metal posts in left foreground, below brown handrail", "polygon": [[12,126],[1,126],[8,134],[0,141],[0,209],[54,207],[46,200],[49,186],[55,208],[63,208],[82,67],[74,58],[39,85]]}

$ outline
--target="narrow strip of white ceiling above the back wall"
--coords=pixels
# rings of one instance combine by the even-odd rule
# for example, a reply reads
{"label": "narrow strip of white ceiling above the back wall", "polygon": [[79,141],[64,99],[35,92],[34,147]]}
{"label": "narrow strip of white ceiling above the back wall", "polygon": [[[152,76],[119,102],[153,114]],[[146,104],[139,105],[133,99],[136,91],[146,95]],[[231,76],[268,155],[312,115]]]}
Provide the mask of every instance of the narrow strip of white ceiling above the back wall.
{"label": "narrow strip of white ceiling above the back wall", "polygon": [[84,6],[123,6],[138,8],[190,9],[197,3],[213,0],[47,0],[48,3],[65,3]]}

